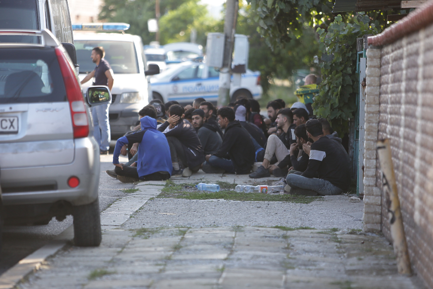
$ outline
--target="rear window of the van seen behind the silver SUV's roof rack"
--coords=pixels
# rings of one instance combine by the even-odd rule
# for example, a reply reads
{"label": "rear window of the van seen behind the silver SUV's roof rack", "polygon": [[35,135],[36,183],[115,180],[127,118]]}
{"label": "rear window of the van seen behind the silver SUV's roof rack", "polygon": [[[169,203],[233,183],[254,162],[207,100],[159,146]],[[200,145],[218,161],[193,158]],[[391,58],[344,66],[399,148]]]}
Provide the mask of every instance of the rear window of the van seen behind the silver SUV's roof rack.
{"label": "rear window of the van seen behind the silver SUV's roof rack", "polygon": [[[0,29],[39,30],[38,2],[25,0],[0,1]],[[0,42],[39,43],[36,36],[0,36]]]}

